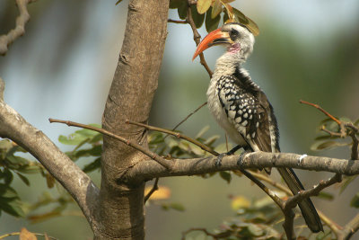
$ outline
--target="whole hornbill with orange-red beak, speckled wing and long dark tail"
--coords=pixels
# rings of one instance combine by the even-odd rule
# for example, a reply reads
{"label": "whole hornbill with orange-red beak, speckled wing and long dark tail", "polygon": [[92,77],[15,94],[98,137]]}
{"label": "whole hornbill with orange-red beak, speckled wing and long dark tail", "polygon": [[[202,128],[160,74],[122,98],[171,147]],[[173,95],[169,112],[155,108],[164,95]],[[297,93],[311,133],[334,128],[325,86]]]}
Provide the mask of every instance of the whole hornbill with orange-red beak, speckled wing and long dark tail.
{"label": "whole hornbill with orange-red beak, speckled wing and long dark tail", "polygon": [[[216,45],[227,47],[227,51],[217,59],[206,93],[209,110],[238,145],[236,149],[243,147],[251,151],[280,152],[279,131],[273,107],[266,94],[241,67],[253,50],[253,34],[241,23],[224,24],[199,43],[193,59],[205,49]],[[278,167],[277,170],[294,195],[304,190],[293,169]],[[270,173],[270,169],[266,171]],[[311,199],[302,200],[298,205],[311,231],[323,231]]]}

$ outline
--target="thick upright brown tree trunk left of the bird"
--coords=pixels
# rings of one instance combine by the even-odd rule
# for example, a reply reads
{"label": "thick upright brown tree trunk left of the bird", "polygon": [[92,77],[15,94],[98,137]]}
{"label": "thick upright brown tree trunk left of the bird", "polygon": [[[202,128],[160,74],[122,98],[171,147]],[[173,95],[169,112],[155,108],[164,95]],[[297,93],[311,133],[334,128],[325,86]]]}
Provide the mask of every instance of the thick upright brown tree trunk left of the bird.
{"label": "thick upright brown tree trunk left of the bird", "polygon": [[[167,35],[168,0],[132,0],[125,39],[106,102],[104,129],[146,145],[144,129],[125,120],[147,122],[157,88]],[[146,157],[126,144],[104,137],[101,192],[95,239],[144,239],[144,182],[121,182],[128,167]]]}

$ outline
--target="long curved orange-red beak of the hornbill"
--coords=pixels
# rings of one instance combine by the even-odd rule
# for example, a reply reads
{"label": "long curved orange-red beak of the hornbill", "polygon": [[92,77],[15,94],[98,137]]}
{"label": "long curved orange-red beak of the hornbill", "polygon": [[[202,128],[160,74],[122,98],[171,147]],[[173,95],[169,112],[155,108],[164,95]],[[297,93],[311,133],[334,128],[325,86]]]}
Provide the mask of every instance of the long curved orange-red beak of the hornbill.
{"label": "long curved orange-red beak of the hornbill", "polygon": [[193,55],[192,61],[204,50],[222,43],[230,43],[230,37],[228,32],[223,32],[221,29],[211,31],[206,37],[198,44],[195,54]]}

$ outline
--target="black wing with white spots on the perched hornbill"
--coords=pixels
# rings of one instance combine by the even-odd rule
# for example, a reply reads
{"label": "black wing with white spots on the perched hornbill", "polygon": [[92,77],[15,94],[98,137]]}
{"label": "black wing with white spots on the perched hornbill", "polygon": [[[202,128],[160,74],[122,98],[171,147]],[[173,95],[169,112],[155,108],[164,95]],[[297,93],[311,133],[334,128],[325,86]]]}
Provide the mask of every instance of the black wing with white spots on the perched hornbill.
{"label": "black wing with white spots on the perched hornbill", "polygon": [[[241,82],[235,76],[222,76],[217,82],[216,88],[219,101],[228,117],[228,120],[238,130],[241,136],[254,151],[273,152],[272,144],[277,142],[276,137],[271,137],[269,126],[270,116],[266,107],[269,102],[259,102],[265,97],[264,93],[257,89],[249,91],[241,87]],[[258,94],[263,94],[258,98]]]}

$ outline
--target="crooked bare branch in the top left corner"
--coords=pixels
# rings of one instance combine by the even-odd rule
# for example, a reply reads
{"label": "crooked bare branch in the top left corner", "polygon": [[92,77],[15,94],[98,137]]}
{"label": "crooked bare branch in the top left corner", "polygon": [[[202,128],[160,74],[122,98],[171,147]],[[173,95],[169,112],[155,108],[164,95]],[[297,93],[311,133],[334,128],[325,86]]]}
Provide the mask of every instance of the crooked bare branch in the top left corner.
{"label": "crooked bare branch in the top left corner", "polygon": [[19,8],[20,15],[16,18],[16,26],[7,34],[0,36],[0,55],[5,55],[7,46],[13,43],[25,33],[25,24],[30,20],[27,4],[31,4],[36,0],[16,0],[17,7]]}

